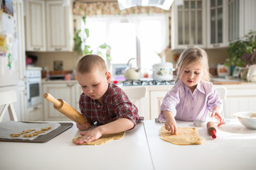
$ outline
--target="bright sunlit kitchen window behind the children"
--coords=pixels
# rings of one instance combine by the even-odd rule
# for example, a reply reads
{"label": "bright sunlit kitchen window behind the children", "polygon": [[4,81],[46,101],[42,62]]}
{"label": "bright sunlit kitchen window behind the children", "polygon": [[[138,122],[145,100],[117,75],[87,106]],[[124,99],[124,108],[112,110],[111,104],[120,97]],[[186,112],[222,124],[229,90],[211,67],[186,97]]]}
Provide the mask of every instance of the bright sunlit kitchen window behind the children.
{"label": "bright sunlit kitchen window behind the children", "polygon": [[88,28],[86,44],[97,53],[104,42],[110,45],[110,64],[127,64],[131,58],[135,67],[151,72],[152,65],[161,62],[159,53],[169,45],[168,15],[154,16],[87,16],[81,28]]}

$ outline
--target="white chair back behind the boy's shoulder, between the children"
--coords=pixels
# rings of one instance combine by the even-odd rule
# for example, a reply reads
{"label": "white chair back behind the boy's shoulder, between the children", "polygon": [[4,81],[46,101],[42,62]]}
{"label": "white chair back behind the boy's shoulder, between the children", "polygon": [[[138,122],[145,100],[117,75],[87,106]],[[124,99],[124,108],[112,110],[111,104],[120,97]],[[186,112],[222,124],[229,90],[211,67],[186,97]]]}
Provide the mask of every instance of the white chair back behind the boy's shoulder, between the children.
{"label": "white chair back behind the boy's shoulder, between the children", "polygon": [[147,88],[145,86],[122,86],[122,90],[125,94],[127,94],[129,100],[137,106],[139,110],[139,116],[149,119],[147,116],[148,113],[145,113],[145,103],[143,102],[143,98],[146,97]]}

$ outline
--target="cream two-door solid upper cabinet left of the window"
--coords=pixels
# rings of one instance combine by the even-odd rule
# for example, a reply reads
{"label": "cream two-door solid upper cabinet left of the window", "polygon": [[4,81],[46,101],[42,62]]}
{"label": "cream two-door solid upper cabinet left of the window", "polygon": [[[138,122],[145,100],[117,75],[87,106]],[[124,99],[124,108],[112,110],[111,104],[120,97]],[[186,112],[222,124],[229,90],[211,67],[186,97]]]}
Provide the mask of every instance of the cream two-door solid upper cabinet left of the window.
{"label": "cream two-door solid upper cabinet left of the window", "polygon": [[73,47],[72,3],[63,1],[26,1],[26,50],[71,51]]}

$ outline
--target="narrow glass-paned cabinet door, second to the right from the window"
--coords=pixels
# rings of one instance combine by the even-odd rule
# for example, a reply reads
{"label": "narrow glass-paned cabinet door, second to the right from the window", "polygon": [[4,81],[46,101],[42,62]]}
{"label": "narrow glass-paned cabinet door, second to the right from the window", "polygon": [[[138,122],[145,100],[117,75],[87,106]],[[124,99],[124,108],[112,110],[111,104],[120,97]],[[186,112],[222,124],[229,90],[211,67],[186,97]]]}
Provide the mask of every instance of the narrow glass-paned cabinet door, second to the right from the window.
{"label": "narrow glass-paned cabinet door, second to the right from the window", "polygon": [[207,47],[228,47],[228,1],[207,1]]}

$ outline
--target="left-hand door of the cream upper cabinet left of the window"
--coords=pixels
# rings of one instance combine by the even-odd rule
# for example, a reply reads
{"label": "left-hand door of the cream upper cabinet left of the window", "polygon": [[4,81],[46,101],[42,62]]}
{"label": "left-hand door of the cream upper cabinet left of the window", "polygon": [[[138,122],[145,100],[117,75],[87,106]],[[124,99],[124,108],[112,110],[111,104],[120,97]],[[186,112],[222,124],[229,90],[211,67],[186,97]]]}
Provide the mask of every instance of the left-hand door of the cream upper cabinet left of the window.
{"label": "left-hand door of the cream upper cabinet left of the window", "polygon": [[46,51],[45,1],[26,0],[26,50]]}

